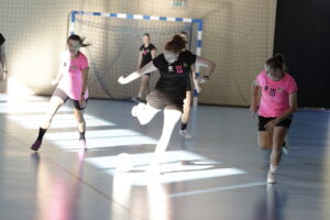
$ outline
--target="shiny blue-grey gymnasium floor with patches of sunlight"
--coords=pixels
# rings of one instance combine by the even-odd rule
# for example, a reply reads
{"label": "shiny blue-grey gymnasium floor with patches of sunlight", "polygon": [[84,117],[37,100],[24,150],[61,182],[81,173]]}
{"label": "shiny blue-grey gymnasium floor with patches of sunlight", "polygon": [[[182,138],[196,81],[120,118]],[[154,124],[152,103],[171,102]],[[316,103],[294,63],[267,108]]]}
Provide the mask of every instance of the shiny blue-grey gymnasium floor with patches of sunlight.
{"label": "shiny blue-grey gymnasium floor with patches of sunlight", "polygon": [[[145,127],[133,102],[89,100],[89,150],[79,152],[70,103],[56,114],[38,153],[30,150],[48,97],[0,96],[1,220],[330,219],[330,113],[299,111],[278,183],[266,180],[248,109],[194,108],[186,141],[175,129],[162,175],[146,173],[163,116]],[[118,172],[117,155],[134,167]]]}

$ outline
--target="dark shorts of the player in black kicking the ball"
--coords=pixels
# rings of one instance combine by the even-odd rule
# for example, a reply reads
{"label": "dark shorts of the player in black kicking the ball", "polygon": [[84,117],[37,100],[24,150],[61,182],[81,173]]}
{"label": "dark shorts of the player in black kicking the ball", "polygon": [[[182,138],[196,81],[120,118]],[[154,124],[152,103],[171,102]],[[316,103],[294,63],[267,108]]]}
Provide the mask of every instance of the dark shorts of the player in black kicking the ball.
{"label": "dark shorts of the player in black kicking the ball", "polygon": [[156,89],[147,95],[146,101],[155,109],[173,109],[183,112],[184,99],[170,99]]}

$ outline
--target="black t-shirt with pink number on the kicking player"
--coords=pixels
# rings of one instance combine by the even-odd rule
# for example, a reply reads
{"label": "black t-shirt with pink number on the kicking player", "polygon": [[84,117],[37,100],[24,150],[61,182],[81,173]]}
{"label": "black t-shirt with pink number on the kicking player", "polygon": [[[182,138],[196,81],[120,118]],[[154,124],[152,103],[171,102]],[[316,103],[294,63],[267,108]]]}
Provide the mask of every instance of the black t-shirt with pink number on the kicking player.
{"label": "black t-shirt with pink number on the kicking player", "polygon": [[190,67],[195,62],[196,55],[191,52],[180,53],[173,64],[165,59],[164,54],[160,54],[153,59],[154,66],[161,73],[156,89],[170,99],[185,99]]}

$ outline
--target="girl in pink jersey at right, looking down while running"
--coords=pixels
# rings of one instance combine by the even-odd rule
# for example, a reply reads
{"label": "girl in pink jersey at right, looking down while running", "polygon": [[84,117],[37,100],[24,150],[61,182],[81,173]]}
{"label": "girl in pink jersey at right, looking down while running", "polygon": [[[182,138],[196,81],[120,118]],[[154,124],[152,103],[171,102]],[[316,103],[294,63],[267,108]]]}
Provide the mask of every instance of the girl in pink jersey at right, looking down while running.
{"label": "girl in pink jersey at right, looking down while running", "polygon": [[[275,183],[275,173],[282,158],[282,145],[297,110],[297,85],[295,79],[284,72],[285,63],[276,54],[265,63],[252,87],[250,111],[254,114],[258,108],[257,142],[262,150],[272,150],[271,168],[267,183]],[[260,105],[257,95],[261,91]]]}

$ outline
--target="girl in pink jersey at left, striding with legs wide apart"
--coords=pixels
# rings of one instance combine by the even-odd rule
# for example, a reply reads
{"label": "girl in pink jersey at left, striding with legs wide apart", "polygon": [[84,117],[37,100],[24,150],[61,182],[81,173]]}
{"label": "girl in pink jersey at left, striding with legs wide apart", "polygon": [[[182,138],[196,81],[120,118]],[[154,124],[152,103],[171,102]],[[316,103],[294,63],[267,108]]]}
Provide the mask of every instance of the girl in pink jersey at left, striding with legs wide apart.
{"label": "girl in pink jersey at left, striding with legs wide apart", "polygon": [[68,37],[68,50],[63,53],[59,72],[56,79],[52,81],[52,85],[57,85],[57,87],[53,92],[50,110],[46,112],[45,120],[40,127],[37,139],[32,144],[31,150],[37,151],[41,147],[43,136],[50,128],[54,114],[68,99],[72,99],[75,106],[74,112],[80,134],[80,147],[87,148],[84,109],[88,99],[87,80],[89,67],[87,57],[79,52],[80,47],[86,46],[89,45],[84,44],[84,38],[80,38],[80,36],[73,34]]}

